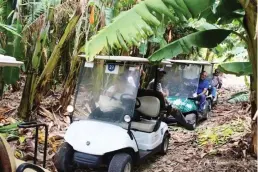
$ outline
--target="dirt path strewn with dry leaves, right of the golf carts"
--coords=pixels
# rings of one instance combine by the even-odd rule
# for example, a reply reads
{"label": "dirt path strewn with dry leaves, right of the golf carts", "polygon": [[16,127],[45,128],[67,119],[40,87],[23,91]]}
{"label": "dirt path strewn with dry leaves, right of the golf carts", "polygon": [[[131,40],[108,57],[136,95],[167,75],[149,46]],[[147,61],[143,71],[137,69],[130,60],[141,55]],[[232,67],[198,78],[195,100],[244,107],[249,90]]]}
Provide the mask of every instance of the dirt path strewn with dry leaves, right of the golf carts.
{"label": "dirt path strewn with dry leaves, right of the golf carts", "polygon": [[[195,131],[170,126],[172,137],[168,154],[148,159],[143,165],[136,167],[135,172],[256,172],[257,160],[250,156],[247,149],[251,122],[249,105],[227,103],[234,92],[246,89],[239,80],[232,76],[224,78],[224,88],[220,90],[219,103],[212,110],[211,117]],[[229,128],[235,131],[230,136],[225,132],[230,131]],[[216,144],[216,139],[225,138],[221,134],[216,139],[211,139],[220,130],[228,137]],[[210,142],[201,145],[200,136],[203,133],[207,134]]]}

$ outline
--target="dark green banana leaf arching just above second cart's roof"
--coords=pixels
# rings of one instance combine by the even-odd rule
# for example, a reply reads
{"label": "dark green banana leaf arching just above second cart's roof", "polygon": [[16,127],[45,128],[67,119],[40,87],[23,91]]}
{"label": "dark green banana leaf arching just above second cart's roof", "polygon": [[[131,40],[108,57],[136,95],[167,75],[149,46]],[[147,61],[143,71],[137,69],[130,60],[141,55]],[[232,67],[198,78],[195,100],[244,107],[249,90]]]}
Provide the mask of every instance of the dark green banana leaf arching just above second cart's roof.
{"label": "dark green banana leaf arching just above second cart's roof", "polygon": [[188,54],[193,46],[200,48],[216,47],[230,33],[230,30],[224,29],[212,29],[192,33],[159,49],[149,57],[149,60],[161,61],[163,59],[173,58],[178,54]]}

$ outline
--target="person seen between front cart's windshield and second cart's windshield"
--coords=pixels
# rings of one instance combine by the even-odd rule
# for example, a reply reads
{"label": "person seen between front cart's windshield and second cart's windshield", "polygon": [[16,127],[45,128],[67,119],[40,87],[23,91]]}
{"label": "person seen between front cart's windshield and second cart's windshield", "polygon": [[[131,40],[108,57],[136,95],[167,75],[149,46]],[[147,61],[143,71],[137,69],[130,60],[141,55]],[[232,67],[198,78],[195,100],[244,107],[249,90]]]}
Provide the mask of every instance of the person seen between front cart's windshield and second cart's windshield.
{"label": "person seen between front cart's windshield and second cart's windshield", "polygon": [[[164,96],[164,98],[166,98],[169,95],[168,89],[164,88],[161,84],[161,81],[166,74],[167,74],[167,72],[164,69],[158,68],[156,91],[161,92],[162,95]],[[154,89],[154,84],[155,84],[155,79],[151,80],[151,82],[148,84],[147,89],[152,89],[153,90]]]}

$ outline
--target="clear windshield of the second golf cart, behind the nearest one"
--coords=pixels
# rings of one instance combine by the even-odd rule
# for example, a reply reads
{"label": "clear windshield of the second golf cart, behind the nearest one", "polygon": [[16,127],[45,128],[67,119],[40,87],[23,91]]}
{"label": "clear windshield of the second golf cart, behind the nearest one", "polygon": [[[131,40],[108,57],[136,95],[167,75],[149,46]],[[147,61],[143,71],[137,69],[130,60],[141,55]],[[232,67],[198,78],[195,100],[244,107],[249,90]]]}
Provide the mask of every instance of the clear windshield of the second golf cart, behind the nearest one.
{"label": "clear windshield of the second golf cart, behind the nearest one", "polygon": [[201,66],[195,64],[173,63],[165,68],[167,74],[164,82],[169,91],[169,97],[189,98],[196,93]]}

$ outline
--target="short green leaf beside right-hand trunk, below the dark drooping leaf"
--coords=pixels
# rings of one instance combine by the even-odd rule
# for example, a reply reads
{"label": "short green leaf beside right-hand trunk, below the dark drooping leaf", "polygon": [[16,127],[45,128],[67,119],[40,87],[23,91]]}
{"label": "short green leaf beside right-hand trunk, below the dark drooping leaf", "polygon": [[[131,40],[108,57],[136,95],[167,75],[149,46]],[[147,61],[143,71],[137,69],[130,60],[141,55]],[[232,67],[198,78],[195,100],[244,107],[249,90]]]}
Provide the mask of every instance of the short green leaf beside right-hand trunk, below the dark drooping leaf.
{"label": "short green leaf beside right-hand trunk, below the dark drooping leaf", "polygon": [[236,76],[251,75],[252,64],[250,62],[230,62],[223,63],[218,66],[221,72],[226,74],[234,74]]}

